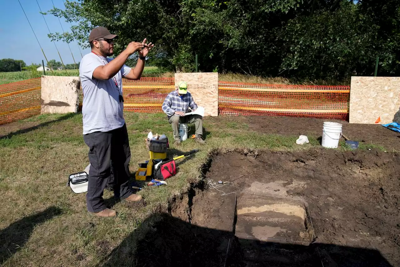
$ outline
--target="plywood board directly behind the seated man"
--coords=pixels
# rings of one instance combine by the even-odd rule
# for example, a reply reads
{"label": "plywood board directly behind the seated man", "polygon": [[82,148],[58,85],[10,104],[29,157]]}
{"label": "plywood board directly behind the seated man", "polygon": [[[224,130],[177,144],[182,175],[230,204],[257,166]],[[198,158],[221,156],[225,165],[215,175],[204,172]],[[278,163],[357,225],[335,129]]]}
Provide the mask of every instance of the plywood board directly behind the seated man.
{"label": "plywood board directly behind the seated man", "polygon": [[218,73],[175,73],[175,88],[180,81],[188,83],[188,92],[204,107],[204,116],[218,116]]}

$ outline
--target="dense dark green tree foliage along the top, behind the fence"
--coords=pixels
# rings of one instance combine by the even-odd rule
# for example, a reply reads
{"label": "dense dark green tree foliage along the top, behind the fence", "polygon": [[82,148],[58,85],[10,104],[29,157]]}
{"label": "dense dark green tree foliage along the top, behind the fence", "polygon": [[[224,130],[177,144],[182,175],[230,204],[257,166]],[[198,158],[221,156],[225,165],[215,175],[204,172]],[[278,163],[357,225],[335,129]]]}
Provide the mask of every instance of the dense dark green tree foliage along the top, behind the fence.
{"label": "dense dark green tree foliage along the top, behind the fence", "polygon": [[[345,79],[399,75],[398,0],[78,0],[49,12],[75,23],[50,38],[88,47],[94,26],[156,44],[150,61],[176,71]],[[135,60],[133,55],[131,60]]]}

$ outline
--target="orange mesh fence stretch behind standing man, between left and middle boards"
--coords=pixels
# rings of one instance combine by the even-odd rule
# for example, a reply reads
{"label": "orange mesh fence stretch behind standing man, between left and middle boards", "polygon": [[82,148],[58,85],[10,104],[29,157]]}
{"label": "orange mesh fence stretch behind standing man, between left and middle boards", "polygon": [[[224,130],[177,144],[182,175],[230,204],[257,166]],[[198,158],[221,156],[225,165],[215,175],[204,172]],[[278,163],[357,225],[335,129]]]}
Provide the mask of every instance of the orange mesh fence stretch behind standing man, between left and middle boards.
{"label": "orange mesh fence stretch behind standing man, between left and middle boards", "polygon": [[[124,111],[147,113],[162,112],[161,106],[166,96],[174,91],[175,79],[164,77],[142,77],[140,80],[122,80]],[[80,108],[82,107],[82,87]]]}

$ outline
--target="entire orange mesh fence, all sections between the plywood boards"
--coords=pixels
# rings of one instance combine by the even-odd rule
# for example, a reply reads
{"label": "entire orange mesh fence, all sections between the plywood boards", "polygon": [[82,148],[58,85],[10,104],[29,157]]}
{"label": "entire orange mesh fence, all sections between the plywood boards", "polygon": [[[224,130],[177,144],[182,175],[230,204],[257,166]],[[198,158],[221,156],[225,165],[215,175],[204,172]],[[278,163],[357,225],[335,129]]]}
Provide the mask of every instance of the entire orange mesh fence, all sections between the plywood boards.
{"label": "entire orange mesh fence, all sections between the plywood boards", "polygon": [[[0,85],[0,124],[40,114],[40,79]],[[123,79],[124,110],[158,113],[174,78]],[[218,83],[219,115],[282,115],[347,119],[350,86]],[[80,110],[82,108],[82,87]]]}

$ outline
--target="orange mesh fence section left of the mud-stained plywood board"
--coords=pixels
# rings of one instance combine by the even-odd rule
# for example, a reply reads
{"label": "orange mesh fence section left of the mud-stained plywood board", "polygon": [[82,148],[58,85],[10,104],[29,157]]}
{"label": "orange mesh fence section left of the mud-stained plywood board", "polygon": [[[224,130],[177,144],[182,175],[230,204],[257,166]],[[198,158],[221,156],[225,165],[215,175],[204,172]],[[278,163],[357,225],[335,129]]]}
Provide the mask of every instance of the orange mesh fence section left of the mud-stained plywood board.
{"label": "orange mesh fence section left of the mud-stained plywood board", "polygon": [[0,85],[0,124],[40,114],[40,80]]}

